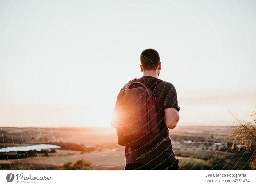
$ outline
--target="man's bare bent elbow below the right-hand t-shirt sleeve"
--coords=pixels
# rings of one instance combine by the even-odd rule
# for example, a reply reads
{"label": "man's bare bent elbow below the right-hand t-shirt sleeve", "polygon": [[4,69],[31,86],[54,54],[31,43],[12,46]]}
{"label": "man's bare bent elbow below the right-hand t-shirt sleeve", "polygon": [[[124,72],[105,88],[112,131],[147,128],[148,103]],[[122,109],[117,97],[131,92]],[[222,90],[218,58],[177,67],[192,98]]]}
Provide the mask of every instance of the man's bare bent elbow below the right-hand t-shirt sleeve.
{"label": "man's bare bent elbow below the right-hand t-shirt sleeve", "polygon": [[170,129],[173,129],[176,127],[178,121],[180,120],[179,112],[176,108],[167,108],[164,109],[164,122],[166,126]]}

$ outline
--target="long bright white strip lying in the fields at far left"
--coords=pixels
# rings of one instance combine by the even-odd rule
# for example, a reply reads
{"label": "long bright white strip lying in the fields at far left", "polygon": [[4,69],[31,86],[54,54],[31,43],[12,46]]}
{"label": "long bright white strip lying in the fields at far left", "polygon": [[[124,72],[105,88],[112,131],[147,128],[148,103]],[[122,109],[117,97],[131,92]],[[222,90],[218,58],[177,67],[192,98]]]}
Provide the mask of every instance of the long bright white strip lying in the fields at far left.
{"label": "long bright white strip lying in the fields at far left", "polygon": [[11,151],[30,151],[37,150],[41,151],[42,149],[58,149],[60,146],[58,145],[49,145],[49,144],[40,144],[40,145],[29,145],[29,146],[19,146],[19,147],[6,147],[1,148],[0,152],[11,152]]}

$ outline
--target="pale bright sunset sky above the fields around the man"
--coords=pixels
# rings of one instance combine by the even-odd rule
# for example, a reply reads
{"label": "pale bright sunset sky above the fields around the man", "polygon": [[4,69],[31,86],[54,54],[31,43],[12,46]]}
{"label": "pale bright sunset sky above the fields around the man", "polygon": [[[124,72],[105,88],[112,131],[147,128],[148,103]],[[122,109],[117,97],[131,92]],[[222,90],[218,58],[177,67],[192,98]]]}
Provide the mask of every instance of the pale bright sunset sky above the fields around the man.
{"label": "pale bright sunset sky above the fields around the man", "polygon": [[140,53],[160,54],[179,125],[256,105],[256,1],[0,2],[0,126],[110,127]]}

